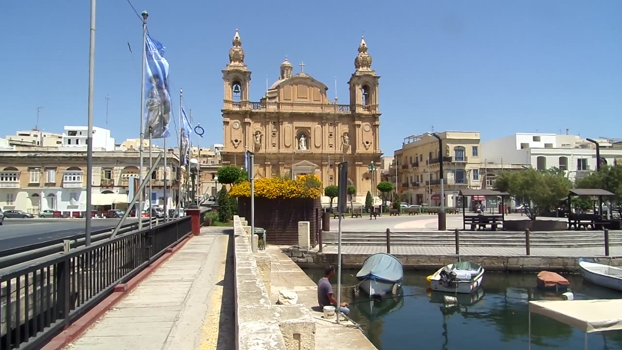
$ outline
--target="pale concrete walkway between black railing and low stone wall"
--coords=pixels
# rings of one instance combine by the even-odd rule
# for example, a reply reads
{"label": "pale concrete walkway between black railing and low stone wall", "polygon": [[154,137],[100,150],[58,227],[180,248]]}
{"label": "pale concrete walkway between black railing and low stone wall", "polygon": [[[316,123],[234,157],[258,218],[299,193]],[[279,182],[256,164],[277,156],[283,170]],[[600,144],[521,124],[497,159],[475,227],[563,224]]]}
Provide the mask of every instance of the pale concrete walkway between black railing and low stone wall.
{"label": "pale concrete walkway between black railing and low stone wall", "polygon": [[234,349],[228,231],[202,228],[66,349]]}

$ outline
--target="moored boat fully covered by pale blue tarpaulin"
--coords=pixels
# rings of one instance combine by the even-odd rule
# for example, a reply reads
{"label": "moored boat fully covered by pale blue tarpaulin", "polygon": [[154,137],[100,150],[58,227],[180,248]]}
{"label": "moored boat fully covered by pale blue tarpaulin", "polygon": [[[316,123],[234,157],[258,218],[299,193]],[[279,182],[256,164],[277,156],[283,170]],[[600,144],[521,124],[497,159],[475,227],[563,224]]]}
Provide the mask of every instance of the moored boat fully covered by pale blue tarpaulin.
{"label": "moored boat fully covered by pale blue tarpaulin", "polygon": [[359,288],[373,298],[383,298],[394,293],[404,279],[402,263],[391,254],[377,253],[363,262],[363,267],[356,273],[360,281]]}

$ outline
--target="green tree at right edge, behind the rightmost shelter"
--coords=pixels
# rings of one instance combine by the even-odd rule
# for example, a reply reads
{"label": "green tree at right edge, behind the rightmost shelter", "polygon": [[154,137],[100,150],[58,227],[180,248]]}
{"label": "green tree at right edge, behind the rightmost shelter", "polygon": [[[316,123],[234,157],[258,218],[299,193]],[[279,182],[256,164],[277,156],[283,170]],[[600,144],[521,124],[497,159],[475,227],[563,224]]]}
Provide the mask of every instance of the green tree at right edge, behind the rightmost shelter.
{"label": "green tree at right edge, behind the rightmost shelter", "polygon": [[600,171],[582,177],[577,181],[578,188],[604,189],[615,196],[603,197],[605,205],[622,215],[622,166],[603,165]]}

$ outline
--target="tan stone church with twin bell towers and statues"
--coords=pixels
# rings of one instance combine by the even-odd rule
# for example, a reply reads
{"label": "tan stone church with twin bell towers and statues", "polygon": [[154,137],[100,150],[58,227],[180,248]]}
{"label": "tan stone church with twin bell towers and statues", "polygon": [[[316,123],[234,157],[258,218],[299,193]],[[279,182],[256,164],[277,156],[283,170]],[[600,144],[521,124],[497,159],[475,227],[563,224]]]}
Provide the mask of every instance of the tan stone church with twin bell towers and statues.
{"label": "tan stone church with twin bell towers and statues", "polygon": [[[323,186],[337,184],[337,164],[348,162],[348,182],[364,201],[379,181],[379,76],[363,38],[348,85],[350,101],[327,97],[328,87],[304,71],[294,74],[285,57],[279,80],[258,102],[249,100],[251,71],[244,64],[242,40],[236,30],[229,64],[223,70],[223,164],[244,165],[244,151],[255,154],[255,176],[292,177],[317,174]],[[262,90],[264,90],[262,88]]]}

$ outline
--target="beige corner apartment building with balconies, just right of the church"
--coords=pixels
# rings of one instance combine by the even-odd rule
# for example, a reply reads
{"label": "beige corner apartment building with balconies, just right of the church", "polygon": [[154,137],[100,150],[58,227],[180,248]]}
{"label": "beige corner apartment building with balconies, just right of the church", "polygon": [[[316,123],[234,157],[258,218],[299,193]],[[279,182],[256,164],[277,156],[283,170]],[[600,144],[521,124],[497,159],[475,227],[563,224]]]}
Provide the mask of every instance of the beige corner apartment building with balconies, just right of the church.
{"label": "beige corner apartment building with balconies, just right of the church", "polygon": [[460,207],[460,190],[481,188],[480,133],[445,131],[437,135],[442,139],[442,154],[439,154],[439,140],[430,133],[404,138],[402,148],[394,152],[400,201],[439,206],[440,162],[443,162],[445,206]]}

